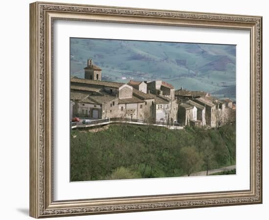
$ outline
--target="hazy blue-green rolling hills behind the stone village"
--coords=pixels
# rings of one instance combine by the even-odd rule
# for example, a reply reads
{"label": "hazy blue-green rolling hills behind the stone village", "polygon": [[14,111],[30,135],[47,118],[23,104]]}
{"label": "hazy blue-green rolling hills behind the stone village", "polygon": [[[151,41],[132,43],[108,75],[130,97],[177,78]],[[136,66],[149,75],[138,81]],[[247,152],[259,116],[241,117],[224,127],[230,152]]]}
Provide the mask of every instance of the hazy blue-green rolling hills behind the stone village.
{"label": "hazy blue-green rolling hills behind the stone village", "polygon": [[84,78],[92,59],[107,81],[161,79],[176,89],[214,93],[235,82],[235,54],[234,45],[71,38],[70,74]]}

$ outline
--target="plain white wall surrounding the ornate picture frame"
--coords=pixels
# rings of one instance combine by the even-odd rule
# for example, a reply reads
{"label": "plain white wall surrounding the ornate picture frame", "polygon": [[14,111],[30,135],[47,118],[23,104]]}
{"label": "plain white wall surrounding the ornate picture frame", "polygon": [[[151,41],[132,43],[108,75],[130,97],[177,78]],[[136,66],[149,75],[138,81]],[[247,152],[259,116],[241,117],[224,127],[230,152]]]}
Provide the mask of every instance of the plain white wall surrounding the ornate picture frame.
{"label": "plain white wall surrounding the ornate picture frame", "polygon": [[[62,0],[57,0],[58,2]],[[1,2],[1,108],[2,122],[0,140],[0,203],[1,219],[24,220],[28,217],[29,204],[29,0],[14,0]],[[269,59],[269,15],[268,6],[264,0],[64,0],[67,3],[114,5],[125,7],[157,8],[182,11],[202,11],[229,14],[248,14],[264,16],[264,73],[269,71],[266,61]],[[14,71],[16,68],[16,71]],[[18,71],[19,69],[19,71]],[[9,83],[12,81],[12,84]],[[269,81],[268,74],[264,74],[264,85]],[[264,88],[265,94],[269,94],[269,87]],[[20,108],[5,110],[4,107],[13,103]],[[264,101],[266,101],[264,99]],[[264,102],[267,109],[268,101]],[[268,133],[268,115],[264,114],[264,136]],[[14,118],[19,118],[20,124],[13,123]],[[149,220],[149,219],[267,219],[269,209],[269,192],[267,169],[269,163],[268,139],[264,138],[264,204],[228,206],[215,208],[184,209],[171,211],[155,211],[142,213],[127,213],[113,215],[98,215],[84,217],[69,217],[68,220]],[[59,218],[63,219],[63,218]],[[65,218],[67,219],[67,218]]]}

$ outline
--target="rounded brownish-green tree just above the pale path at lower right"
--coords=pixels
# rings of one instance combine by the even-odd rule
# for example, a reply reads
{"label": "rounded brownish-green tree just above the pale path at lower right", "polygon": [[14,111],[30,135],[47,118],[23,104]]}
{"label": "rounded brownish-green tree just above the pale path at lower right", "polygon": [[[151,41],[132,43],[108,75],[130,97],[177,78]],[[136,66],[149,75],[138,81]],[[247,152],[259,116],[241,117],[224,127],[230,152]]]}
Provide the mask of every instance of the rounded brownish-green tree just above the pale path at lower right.
{"label": "rounded brownish-green tree just above the pale path at lower right", "polygon": [[188,176],[201,167],[201,158],[195,147],[183,147],[180,150],[179,165]]}

